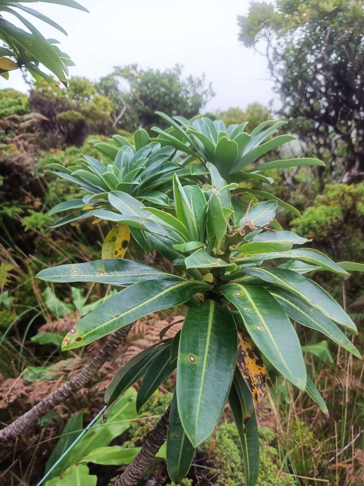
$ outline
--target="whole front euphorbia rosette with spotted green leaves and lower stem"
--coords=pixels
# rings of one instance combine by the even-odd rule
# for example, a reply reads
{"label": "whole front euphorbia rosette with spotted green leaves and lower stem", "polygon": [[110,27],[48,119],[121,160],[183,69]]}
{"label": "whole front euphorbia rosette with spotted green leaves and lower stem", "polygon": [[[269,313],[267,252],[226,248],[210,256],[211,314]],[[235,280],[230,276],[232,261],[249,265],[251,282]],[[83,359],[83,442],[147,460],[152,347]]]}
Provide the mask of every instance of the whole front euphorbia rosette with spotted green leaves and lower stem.
{"label": "whole front euphorbia rosette with spotted green leaves and lower stem", "polygon": [[[196,447],[214,430],[229,401],[244,455],[246,482],[255,484],[259,470],[255,402],[265,394],[264,361],[272,364],[299,390],[307,391],[321,410],[327,407],[307,376],[292,321],[318,330],[360,358],[345,328],[357,333],[342,307],[308,272],[349,275],[323,253],[301,247],[308,242],[291,231],[276,231],[277,200],[233,211],[229,185],[207,162],[210,184],[182,186],[173,176],[173,208],[141,204],[125,191],[110,191],[113,210],[92,210],[97,218],[136,228],[183,271],[184,277],[125,259],[68,264],[41,271],[52,282],[104,282],[124,287],[83,317],[66,335],[63,349],[92,343],[150,312],[188,307],[182,330],[144,350],[126,364],[109,386],[107,415],[134,382],[144,377],[136,398],[141,407],[177,368],[172,404],[153,435],[116,485],[134,485],[165,440],[171,480],[187,474]],[[299,247],[297,248],[297,246]],[[294,248],[293,248],[294,246]],[[284,259],[278,267],[270,260]],[[339,327],[340,326],[340,327]],[[169,422],[168,422],[169,417]],[[168,431],[166,427],[168,426]],[[159,436],[158,436],[159,434]],[[149,439],[148,439],[149,440]]]}

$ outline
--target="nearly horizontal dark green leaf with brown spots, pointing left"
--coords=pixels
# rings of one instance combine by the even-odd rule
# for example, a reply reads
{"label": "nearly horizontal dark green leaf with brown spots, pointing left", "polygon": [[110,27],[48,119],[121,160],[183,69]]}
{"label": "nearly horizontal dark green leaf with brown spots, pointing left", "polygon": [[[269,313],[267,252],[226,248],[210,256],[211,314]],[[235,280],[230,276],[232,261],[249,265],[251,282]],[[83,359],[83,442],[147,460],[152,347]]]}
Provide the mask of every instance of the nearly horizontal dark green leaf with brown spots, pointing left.
{"label": "nearly horizontal dark green leaf with brown spots, pointing left", "polygon": [[144,263],[114,258],[45,268],[36,277],[47,282],[100,282],[120,287],[144,280],[184,280]]}

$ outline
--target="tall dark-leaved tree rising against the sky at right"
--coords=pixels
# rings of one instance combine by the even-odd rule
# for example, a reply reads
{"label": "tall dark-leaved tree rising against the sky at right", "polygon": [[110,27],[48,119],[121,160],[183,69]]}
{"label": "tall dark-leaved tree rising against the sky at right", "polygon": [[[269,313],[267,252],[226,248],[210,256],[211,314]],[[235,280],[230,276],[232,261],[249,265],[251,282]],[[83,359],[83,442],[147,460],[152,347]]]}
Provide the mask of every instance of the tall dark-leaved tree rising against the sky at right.
{"label": "tall dark-leaved tree rising against the sky at right", "polygon": [[238,16],[239,40],[259,50],[265,43],[276,114],[344,182],[364,175],[363,22],[362,0],[251,2]]}

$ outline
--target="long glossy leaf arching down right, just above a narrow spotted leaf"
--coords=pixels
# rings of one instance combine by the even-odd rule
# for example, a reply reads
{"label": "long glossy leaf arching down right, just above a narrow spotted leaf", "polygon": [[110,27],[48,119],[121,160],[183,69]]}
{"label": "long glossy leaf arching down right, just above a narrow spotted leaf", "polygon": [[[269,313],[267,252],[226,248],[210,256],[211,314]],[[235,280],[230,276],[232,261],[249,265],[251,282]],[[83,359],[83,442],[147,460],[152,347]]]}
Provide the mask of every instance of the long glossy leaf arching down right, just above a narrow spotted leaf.
{"label": "long glossy leaf arching down right, just above a narrow spotted leaf", "polygon": [[243,274],[261,278],[265,282],[278,285],[292,292],[309,303],[311,307],[321,311],[329,319],[354,333],[358,332],[353,321],[331,295],[325,292],[317,283],[299,275],[297,272],[283,268],[248,268],[244,270]]}

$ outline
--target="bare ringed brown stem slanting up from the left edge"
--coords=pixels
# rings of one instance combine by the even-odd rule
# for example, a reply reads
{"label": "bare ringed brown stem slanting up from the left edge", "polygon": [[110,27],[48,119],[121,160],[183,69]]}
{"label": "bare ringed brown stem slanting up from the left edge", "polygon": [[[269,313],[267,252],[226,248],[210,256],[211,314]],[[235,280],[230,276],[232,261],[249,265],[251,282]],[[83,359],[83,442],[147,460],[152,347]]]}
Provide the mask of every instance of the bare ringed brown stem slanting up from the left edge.
{"label": "bare ringed brown stem slanting up from the left edge", "polygon": [[58,390],[51,393],[47,398],[37,403],[31,410],[17,418],[12,424],[0,431],[0,444],[7,444],[18,437],[24,430],[31,427],[46,415],[54,407],[74,395],[78,390],[91,380],[101,366],[107,361],[119,344],[125,339],[132,328],[133,323],[117,329],[99,350],[97,355],[87,364],[82,371],[69,382],[64,383]]}

